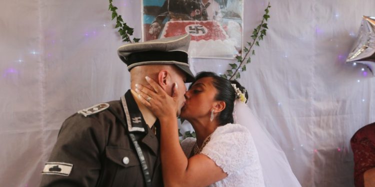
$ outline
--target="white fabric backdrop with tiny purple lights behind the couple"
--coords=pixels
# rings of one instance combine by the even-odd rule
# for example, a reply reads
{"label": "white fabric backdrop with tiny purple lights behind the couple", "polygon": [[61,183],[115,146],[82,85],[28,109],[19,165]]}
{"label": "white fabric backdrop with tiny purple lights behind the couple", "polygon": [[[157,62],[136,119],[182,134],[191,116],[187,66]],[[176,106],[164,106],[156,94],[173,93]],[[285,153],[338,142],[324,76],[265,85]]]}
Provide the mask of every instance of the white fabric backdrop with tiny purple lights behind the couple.
{"label": "white fabric backdrop with tiny purple lights behind the couple", "polygon": [[[114,0],[140,37],[140,0]],[[303,187],[353,186],[349,139],[375,121],[375,78],[344,64],[374,0],[271,0],[269,30],[240,82]],[[244,40],[265,0],[244,2]],[[65,118],[119,99],[129,73],[106,0],[2,0],[0,186],[35,187]],[[229,60],[190,59],[222,73]]]}

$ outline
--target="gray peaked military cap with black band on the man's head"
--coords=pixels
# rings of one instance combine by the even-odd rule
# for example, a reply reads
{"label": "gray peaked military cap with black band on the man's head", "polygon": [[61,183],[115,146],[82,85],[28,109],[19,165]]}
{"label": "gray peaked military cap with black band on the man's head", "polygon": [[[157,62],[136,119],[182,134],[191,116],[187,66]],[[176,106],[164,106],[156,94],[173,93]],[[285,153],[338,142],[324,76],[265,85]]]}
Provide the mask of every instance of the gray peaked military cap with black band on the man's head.
{"label": "gray peaked military cap with black band on the man's head", "polygon": [[186,73],[186,82],[192,82],[194,75],[190,71],[187,58],[190,35],[129,43],[118,47],[120,59],[126,63],[127,70],[146,64],[173,64]]}

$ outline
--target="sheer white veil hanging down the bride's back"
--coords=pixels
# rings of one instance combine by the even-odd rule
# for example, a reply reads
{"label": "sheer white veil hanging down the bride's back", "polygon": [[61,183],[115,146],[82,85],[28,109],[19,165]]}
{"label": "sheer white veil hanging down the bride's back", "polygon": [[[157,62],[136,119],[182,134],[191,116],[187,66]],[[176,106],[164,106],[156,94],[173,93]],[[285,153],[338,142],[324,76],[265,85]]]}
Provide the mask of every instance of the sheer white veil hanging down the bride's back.
{"label": "sheer white veil hanging down the bride's back", "polygon": [[265,186],[300,187],[284,152],[245,103],[239,100],[234,102],[233,119],[234,123],[245,126],[251,133],[259,155]]}

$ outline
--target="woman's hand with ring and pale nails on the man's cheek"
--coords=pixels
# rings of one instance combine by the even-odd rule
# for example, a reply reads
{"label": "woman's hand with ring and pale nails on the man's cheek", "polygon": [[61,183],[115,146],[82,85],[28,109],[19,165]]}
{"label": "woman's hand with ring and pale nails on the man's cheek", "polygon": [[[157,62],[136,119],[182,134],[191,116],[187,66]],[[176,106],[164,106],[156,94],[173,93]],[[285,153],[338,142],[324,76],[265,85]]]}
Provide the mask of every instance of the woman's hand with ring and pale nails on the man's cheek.
{"label": "woman's hand with ring and pale nails on the man's cheek", "polygon": [[135,92],[138,94],[140,102],[146,106],[159,119],[175,118],[178,111],[178,89],[177,83],[174,83],[172,96],[169,96],[154,80],[145,77],[149,88],[135,84]]}

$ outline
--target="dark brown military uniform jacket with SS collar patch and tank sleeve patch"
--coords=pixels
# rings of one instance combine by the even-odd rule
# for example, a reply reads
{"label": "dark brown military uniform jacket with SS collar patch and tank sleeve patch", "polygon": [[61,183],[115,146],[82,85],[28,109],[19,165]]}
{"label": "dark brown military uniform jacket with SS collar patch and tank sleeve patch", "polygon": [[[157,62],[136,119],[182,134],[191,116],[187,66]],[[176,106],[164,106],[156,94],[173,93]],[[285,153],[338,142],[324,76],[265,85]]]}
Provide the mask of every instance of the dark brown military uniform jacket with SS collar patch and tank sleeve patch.
{"label": "dark brown military uniform jacket with SS collar patch and tank sleeve patch", "polygon": [[[154,125],[158,126],[158,120]],[[130,90],[121,100],[84,109],[64,121],[40,186],[144,187],[142,168],[127,132],[137,139],[152,187],[163,186],[159,139],[144,122]]]}

